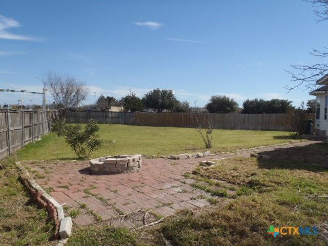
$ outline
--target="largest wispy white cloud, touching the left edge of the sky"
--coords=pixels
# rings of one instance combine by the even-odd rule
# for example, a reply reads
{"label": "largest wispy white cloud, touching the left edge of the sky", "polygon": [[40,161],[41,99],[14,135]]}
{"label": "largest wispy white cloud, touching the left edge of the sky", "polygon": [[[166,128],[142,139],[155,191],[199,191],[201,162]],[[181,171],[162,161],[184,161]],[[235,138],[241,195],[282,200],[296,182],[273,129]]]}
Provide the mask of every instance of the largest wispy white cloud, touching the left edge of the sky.
{"label": "largest wispy white cloud, touching the left edge of the sky", "polygon": [[30,36],[17,35],[6,31],[7,29],[20,27],[19,22],[13,18],[5,17],[0,15],[0,38],[11,39],[11,40],[28,40],[28,41],[38,41],[39,39]]}

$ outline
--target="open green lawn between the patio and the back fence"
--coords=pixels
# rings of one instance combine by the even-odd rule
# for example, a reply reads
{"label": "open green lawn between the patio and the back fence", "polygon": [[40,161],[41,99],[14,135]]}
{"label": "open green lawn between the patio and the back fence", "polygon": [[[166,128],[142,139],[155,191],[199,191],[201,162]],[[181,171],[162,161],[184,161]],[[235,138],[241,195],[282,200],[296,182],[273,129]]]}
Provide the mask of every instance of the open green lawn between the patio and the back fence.
{"label": "open green lawn between the patio and the back fence", "polygon": [[[204,151],[203,142],[194,129],[100,125],[99,135],[105,144],[91,157],[115,154],[169,155]],[[290,142],[287,132],[214,130],[212,152],[226,152],[264,145]],[[112,142],[114,141],[114,143]],[[63,138],[55,134],[27,145],[18,151],[21,160],[76,158]]]}

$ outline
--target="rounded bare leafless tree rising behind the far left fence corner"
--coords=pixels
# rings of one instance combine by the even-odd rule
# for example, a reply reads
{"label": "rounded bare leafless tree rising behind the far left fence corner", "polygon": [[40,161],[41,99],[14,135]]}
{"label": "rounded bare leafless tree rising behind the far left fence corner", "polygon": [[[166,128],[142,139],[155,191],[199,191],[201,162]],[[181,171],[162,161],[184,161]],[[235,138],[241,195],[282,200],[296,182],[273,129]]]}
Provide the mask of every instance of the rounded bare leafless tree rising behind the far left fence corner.
{"label": "rounded bare leafless tree rising behind the far left fence corner", "polygon": [[65,119],[69,109],[77,107],[78,103],[85,100],[89,93],[85,83],[69,75],[48,72],[42,76],[42,81],[57,105],[60,119]]}

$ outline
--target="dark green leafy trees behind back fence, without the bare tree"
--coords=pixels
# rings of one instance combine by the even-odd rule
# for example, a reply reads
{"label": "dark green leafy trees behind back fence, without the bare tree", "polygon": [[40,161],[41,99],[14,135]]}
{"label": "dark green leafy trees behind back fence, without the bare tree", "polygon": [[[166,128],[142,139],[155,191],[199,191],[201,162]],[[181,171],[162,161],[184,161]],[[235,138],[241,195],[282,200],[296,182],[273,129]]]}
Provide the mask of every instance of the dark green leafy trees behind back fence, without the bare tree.
{"label": "dark green leafy trees behind back fence, without the bare tree", "polygon": [[[288,113],[295,107],[293,101],[288,99],[247,99],[243,102],[242,108],[238,107],[235,99],[228,96],[215,95],[206,104],[209,113],[244,113],[244,114],[281,114]],[[136,112],[145,109],[154,109],[157,112],[168,110],[171,112],[190,112],[192,108],[188,101],[179,101],[170,90],[155,89],[149,91],[144,97],[139,98],[135,93],[117,100],[113,96],[104,95],[97,99],[96,107],[101,110],[110,109],[111,106],[123,107],[124,111]],[[308,100],[306,112],[314,113],[316,107],[315,99]]]}

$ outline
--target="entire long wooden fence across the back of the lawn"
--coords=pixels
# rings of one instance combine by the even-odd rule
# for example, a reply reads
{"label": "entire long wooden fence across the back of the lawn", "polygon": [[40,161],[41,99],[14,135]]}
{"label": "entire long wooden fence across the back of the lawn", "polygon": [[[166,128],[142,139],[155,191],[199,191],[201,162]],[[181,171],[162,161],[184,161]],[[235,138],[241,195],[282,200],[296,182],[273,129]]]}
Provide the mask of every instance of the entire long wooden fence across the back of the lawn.
{"label": "entire long wooden fence across the back of the lawn", "polygon": [[[198,114],[210,118],[214,129],[286,131],[288,114]],[[125,112],[69,112],[68,123],[86,123],[94,119],[101,124],[125,124],[153,127],[194,126],[193,113],[125,113]],[[314,114],[309,114],[314,119]]]}

